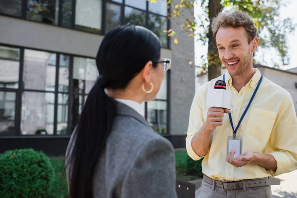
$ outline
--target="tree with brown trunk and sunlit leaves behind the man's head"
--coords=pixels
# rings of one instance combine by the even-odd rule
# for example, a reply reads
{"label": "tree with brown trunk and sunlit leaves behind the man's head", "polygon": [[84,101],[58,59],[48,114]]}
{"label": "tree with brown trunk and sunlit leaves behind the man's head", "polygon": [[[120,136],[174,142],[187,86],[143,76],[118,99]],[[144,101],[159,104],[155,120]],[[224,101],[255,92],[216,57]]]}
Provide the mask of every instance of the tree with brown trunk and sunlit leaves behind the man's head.
{"label": "tree with brown trunk and sunlit leaves behind the man's head", "polygon": [[[189,36],[198,36],[204,44],[208,43],[207,61],[202,65],[204,70],[208,67],[208,80],[220,76],[222,66],[209,24],[213,17],[225,8],[247,12],[258,29],[259,46],[263,49],[276,49],[281,57],[282,65],[288,65],[290,62],[286,36],[295,30],[295,25],[290,18],[280,19],[279,17],[280,7],[285,6],[288,0],[178,0],[179,3],[167,0],[167,2],[171,5],[168,18],[180,17],[184,12],[190,11],[192,16],[181,24],[181,28],[189,32]],[[193,12],[195,4],[204,10],[196,18]],[[198,28],[203,28],[204,32],[197,34]],[[168,30],[167,33],[168,36],[175,34],[174,30]],[[275,67],[279,67],[277,62],[274,64]]]}

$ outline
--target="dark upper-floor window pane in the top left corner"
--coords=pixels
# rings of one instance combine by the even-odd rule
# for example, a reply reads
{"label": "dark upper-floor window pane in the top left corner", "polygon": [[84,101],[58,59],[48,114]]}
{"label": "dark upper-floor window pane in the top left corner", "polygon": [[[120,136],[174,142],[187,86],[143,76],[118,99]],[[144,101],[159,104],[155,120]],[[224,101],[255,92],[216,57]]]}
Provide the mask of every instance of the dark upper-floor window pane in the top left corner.
{"label": "dark upper-floor window pane in the top left corner", "polygon": [[21,11],[22,0],[0,0],[0,13],[21,16]]}

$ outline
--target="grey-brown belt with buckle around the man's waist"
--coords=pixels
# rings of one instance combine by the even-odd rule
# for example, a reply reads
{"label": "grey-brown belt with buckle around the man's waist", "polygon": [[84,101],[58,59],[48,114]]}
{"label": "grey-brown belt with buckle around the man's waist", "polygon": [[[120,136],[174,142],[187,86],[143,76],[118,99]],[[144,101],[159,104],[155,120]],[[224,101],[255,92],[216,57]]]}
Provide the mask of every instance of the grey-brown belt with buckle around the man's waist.
{"label": "grey-brown belt with buckle around the man's waist", "polygon": [[281,181],[277,178],[272,177],[264,177],[258,179],[249,179],[249,180],[240,180],[240,181],[218,181],[203,175],[203,180],[212,185],[213,187],[219,187],[223,190],[236,190],[236,189],[244,189],[260,187],[260,186],[270,186],[270,185],[280,185]]}

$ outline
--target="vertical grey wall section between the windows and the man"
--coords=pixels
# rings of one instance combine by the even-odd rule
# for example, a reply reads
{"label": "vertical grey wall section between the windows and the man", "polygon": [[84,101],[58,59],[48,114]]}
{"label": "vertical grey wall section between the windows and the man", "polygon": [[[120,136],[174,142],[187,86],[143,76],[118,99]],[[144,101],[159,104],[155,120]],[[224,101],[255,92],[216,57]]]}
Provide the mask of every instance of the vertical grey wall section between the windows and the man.
{"label": "vertical grey wall section between the windows and the man", "polygon": [[[180,0],[173,0],[178,3]],[[175,38],[178,44],[173,44],[172,70],[171,70],[171,134],[184,135],[188,129],[189,113],[195,95],[195,67],[186,60],[194,53],[194,38],[189,38],[189,33],[181,30],[180,25],[186,21],[184,17],[171,19],[171,28],[176,31]]]}

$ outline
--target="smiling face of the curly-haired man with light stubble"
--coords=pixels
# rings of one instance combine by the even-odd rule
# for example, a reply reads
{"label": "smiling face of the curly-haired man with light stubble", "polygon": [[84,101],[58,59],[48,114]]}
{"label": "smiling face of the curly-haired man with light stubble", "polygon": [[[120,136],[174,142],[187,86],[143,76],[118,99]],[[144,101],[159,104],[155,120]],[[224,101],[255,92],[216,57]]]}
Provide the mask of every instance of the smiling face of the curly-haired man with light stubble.
{"label": "smiling face of the curly-haired man with light stubble", "polygon": [[[245,28],[221,27],[216,34],[219,57],[231,76],[241,75],[252,68],[252,53],[256,47],[254,38],[247,42]],[[256,44],[257,45],[257,44]]]}

